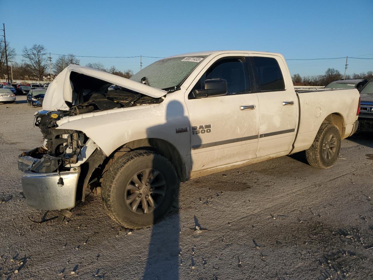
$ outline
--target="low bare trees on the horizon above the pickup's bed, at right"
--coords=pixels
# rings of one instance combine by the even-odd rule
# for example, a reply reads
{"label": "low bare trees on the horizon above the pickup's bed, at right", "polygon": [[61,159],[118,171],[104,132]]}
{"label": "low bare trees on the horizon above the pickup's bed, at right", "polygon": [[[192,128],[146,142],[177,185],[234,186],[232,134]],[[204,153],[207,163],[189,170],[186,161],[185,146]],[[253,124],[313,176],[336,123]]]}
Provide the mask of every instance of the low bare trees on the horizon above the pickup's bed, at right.
{"label": "low bare trees on the horizon above the pickup's bed, at right", "polygon": [[[341,74],[338,70],[334,68],[328,68],[325,71],[324,75],[314,75],[314,76],[305,76],[301,77],[299,74],[294,74],[292,80],[294,85],[322,85],[332,83],[333,81],[343,79],[344,75]],[[372,71],[370,72],[361,72],[359,74],[354,73],[352,75],[346,75],[345,79],[367,79],[370,80],[373,78]]]}

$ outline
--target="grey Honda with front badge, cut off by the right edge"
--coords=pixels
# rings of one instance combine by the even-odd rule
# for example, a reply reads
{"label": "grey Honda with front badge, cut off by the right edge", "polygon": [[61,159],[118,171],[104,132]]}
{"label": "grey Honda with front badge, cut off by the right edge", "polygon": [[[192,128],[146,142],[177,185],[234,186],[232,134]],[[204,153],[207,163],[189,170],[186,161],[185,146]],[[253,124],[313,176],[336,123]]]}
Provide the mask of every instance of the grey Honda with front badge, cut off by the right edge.
{"label": "grey Honda with front badge, cut off by the right edge", "polygon": [[373,132],[373,79],[360,90],[359,131]]}

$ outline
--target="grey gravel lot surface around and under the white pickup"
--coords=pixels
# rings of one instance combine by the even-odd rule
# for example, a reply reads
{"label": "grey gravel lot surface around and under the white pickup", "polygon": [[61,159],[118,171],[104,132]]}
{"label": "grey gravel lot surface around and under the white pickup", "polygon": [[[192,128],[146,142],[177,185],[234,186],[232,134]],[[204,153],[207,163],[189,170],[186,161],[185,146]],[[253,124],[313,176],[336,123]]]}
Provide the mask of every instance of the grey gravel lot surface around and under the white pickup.
{"label": "grey gravel lot surface around and under the white pickup", "polygon": [[372,135],[330,169],[298,153],[183,183],[152,228],[120,227],[94,195],[34,223],[57,211],[25,204],[16,158],[43,142],[41,108],[17,99],[0,104],[1,279],[373,279]]}

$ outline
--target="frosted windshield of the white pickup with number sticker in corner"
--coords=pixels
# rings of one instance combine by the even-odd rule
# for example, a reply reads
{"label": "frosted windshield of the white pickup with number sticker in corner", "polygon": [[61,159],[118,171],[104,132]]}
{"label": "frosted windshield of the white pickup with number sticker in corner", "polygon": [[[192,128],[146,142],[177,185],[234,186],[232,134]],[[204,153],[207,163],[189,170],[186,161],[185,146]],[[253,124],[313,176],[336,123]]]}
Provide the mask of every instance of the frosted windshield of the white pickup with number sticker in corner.
{"label": "frosted windshield of the white pickup with number sticker in corner", "polygon": [[130,80],[141,83],[146,77],[148,85],[160,89],[181,84],[206,56],[179,56],[158,60],[133,75]]}

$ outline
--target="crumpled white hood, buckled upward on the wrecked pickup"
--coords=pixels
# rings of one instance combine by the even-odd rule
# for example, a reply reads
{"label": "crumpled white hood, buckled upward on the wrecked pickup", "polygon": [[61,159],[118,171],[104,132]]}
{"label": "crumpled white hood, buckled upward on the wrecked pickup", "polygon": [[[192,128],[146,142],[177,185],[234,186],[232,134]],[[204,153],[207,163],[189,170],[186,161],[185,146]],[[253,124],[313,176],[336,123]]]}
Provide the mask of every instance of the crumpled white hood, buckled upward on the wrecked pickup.
{"label": "crumpled white hood, buckled upward on the wrecked pickup", "polygon": [[107,81],[108,83],[120,85],[121,87],[128,88],[129,90],[133,90],[154,98],[160,98],[167,93],[159,88],[150,87],[148,85],[144,85],[142,83],[138,83],[136,81],[119,77],[104,71],[70,64],[57,75],[52,83],[49,84],[43,101],[43,110],[69,110],[69,106],[66,105],[65,101],[70,103],[73,102],[72,84],[70,82],[71,72],[77,72],[90,77],[98,78],[100,80]]}

